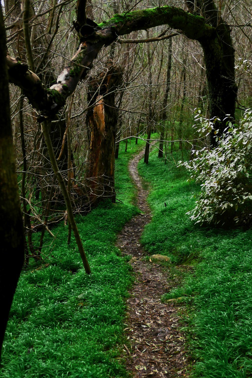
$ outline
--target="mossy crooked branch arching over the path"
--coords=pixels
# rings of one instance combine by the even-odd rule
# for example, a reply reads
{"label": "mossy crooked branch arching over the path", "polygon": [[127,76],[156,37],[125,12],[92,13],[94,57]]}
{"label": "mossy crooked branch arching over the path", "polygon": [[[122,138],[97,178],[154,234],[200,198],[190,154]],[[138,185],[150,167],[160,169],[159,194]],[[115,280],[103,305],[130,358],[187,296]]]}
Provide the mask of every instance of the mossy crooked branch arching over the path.
{"label": "mossy crooked branch arching over the path", "polygon": [[[77,2],[79,20],[80,15],[83,16],[84,4],[85,0]],[[58,76],[57,82],[49,89],[42,85],[39,77],[28,70],[25,64],[20,64],[16,59],[7,56],[9,81],[22,88],[32,107],[40,112],[38,122],[42,122],[45,118],[54,118],[68,96],[73,93],[78,82],[93,67],[93,60],[102,46],[110,45],[118,36],[166,24],[181,31],[190,39],[203,39],[215,33],[215,28],[206,24],[203,17],[172,6],[115,14],[110,20],[99,25],[90,23],[88,19],[86,21],[89,23],[85,25],[83,22],[82,25],[78,21],[75,23],[80,37],[79,48],[68,66]]]}

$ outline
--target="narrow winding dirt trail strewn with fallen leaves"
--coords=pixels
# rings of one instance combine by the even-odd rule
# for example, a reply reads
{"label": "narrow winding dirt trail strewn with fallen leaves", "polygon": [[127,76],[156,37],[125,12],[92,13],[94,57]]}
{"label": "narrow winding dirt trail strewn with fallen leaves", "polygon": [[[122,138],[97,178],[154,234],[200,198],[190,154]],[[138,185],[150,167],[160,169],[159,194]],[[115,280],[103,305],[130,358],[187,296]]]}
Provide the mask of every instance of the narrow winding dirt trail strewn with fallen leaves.
{"label": "narrow winding dirt trail strewn with fallen leaves", "polygon": [[[137,204],[142,213],[133,217],[118,235],[117,246],[123,255],[130,254],[135,283],[127,301],[126,335],[130,348],[125,347],[126,367],[135,378],[147,376],[162,378],[188,377],[185,338],[179,329],[176,301],[161,303],[162,294],[178,284],[179,278],[170,270],[144,258],[140,238],[151,213],[138,175],[137,165],[144,155],[141,152],[130,161],[129,170],[138,189]],[[156,260],[155,260],[156,261]]]}

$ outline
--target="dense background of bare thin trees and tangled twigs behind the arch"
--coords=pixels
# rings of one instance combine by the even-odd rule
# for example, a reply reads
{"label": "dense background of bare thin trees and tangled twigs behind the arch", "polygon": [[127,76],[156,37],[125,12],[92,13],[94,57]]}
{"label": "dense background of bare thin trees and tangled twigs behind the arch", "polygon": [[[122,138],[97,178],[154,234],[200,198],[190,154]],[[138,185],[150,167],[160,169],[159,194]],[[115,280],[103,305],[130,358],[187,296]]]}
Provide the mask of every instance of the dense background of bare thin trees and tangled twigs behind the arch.
{"label": "dense background of bare thin trees and tangled twigs behind the arch", "polygon": [[[160,2],[93,2],[88,3],[86,13],[99,24],[116,13],[163,5],[165,3]],[[172,2],[169,5],[186,11],[191,6],[192,10],[190,2]],[[195,3],[194,6],[196,5]],[[205,3],[201,6],[205,6]],[[68,1],[5,2],[8,54],[18,57],[22,62],[28,59],[29,68],[36,72],[47,88],[56,82],[58,74],[68,65],[79,45],[73,27],[75,7],[74,2]],[[241,110],[249,107],[251,101],[251,9],[249,2],[245,0],[220,0],[216,2],[216,9],[231,28],[235,49],[235,81],[238,87],[236,117],[239,119]],[[203,11],[197,8],[197,12],[200,14]],[[162,40],[167,35],[170,38]],[[161,40],[139,43],[156,37]],[[25,38],[29,39],[29,43],[25,43]],[[130,43],[129,39],[136,43]],[[31,51],[26,52],[29,45]],[[110,81],[108,95],[111,74],[116,79]],[[100,136],[96,136],[91,120],[93,106],[96,102],[97,119],[100,119],[99,111],[102,110],[99,110],[99,96],[106,91],[105,100],[101,101],[106,102],[107,97],[108,111],[106,110],[105,116],[108,118],[105,122],[110,123],[111,128],[100,131]],[[201,141],[194,140],[198,138],[198,134],[192,126],[195,108],[200,108],[203,116],[209,116],[207,91],[201,45],[166,25],[132,32],[102,48],[93,69],[88,71],[84,81],[79,82],[74,95],[70,96],[65,108],[51,123],[54,152],[56,158],[60,155],[59,167],[65,180],[68,180],[68,192],[71,192],[74,210],[88,211],[105,197],[114,200],[113,172],[111,171],[110,177],[110,167],[102,168],[104,164],[112,164],[113,159],[106,155],[109,147],[101,147],[99,153],[103,155],[99,156],[94,148],[92,152],[92,142],[101,143],[99,138],[104,139],[107,133],[105,139],[111,139],[110,144],[113,146],[116,138],[117,156],[121,140],[127,141],[130,136],[142,137],[150,131],[159,132],[161,139],[165,141],[180,140],[179,149],[183,159],[184,150],[203,145]],[[65,206],[54,180],[42,129],[36,122],[36,110],[22,96],[22,91],[13,85],[10,87],[10,99],[13,145],[28,236],[26,256],[37,255],[31,242],[31,227],[41,228],[45,217],[51,218],[51,215],[54,215],[54,219],[50,222],[57,222],[59,217],[66,215]],[[68,139],[70,143],[64,143]],[[173,152],[173,143],[165,142],[164,146],[161,143],[160,148],[159,156],[162,157]],[[41,248],[42,242],[39,251]]]}

